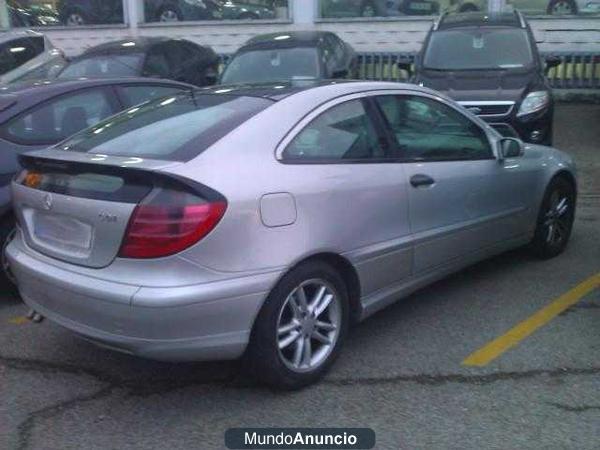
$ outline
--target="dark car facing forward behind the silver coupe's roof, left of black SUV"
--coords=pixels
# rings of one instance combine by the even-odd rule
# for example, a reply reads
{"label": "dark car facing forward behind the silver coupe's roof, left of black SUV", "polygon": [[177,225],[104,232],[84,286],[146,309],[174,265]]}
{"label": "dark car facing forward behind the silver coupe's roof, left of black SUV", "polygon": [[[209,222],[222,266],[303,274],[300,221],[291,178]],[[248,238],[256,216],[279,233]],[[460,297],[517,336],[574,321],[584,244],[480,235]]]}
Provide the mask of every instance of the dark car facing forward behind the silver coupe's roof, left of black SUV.
{"label": "dark car facing forward behind the silver coupe's roof, left of black SUV", "polygon": [[355,77],[357,67],[354,49],[334,33],[272,33],[241,47],[221,75],[221,84]]}

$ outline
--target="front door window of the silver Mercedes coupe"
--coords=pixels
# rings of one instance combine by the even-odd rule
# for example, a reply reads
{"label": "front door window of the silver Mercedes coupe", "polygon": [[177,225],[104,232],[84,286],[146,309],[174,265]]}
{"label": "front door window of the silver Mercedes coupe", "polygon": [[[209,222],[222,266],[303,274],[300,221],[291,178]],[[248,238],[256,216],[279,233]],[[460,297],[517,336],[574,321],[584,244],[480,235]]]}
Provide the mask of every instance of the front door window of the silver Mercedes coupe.
{"label": "front door window of the silver Mercedes coupe", "polygon": [[376,102],[403,158],[412,161],[493,158],[485,132],[441,102],[395,95],[379,96]]}

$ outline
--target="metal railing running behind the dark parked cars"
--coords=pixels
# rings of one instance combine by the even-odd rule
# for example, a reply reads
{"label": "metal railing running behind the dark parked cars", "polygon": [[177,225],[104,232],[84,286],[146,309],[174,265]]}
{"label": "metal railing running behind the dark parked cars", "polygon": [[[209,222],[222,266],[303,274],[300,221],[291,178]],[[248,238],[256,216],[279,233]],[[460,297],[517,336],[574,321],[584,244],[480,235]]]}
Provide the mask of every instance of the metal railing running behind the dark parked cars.
{"label": "metal railing running behind the dark parked cars", "polygon": [[[358,54],[358,77],[374,81],[408,81],[409,74],[398,67],[398,62],[414,61],[414,52],[369,52]],[[550,69],[548,80],[556,89],[600,89],[599,52],[546,52],[558,57],[561,64]],[[221,55],[224,67],[230,55]]]}

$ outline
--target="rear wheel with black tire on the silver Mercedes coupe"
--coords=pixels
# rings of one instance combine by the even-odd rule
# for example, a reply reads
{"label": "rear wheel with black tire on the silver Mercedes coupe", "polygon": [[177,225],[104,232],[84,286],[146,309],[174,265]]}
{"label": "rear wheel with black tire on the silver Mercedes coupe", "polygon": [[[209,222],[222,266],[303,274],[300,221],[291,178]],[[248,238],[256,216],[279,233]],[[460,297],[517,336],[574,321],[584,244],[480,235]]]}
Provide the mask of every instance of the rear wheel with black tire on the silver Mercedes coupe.
{"label": "rear wheel with black tire on the silver Mercedes coupe", "polygon": [[[318,293],[320,302],[315,301]],[[271,291],[256,318],[244,356],[246,370],[278,389],[315,383],[339,355],[349,318],[346,285],[335,269],[319,261],[296,267]]]}

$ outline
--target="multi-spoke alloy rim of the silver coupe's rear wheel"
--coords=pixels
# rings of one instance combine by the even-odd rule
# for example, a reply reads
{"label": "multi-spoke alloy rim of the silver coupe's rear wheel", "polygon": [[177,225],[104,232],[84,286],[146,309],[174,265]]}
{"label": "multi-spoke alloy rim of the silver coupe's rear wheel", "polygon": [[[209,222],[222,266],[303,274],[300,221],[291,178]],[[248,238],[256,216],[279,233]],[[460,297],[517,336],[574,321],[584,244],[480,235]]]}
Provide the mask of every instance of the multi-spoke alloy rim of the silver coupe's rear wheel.
{"label": "multi-spoke alloy rim of the silver coupe's rear wheel", "polygon": [[339,294],[324,280],[308,280],[286,298],[277,321],[277,346],[283,363],[294,372],[323,364],[340,335]]}

